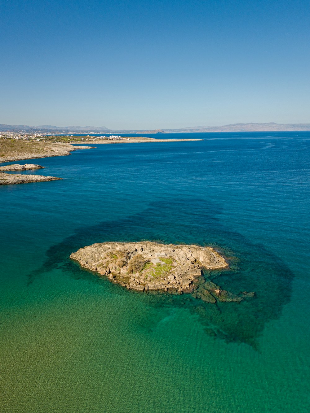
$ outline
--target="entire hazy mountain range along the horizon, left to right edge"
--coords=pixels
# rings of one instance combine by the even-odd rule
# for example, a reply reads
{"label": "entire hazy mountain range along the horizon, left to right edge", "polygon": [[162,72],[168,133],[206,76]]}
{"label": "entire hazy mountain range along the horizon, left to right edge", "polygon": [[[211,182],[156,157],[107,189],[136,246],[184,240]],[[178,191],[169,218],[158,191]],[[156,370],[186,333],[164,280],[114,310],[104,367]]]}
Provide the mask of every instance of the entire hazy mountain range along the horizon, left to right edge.
{"label": "entire hazy mountain range along the horizon, left to right edge", "polygon": [[[28,126],[28,125],[5,125],[0,123],[0,131],[6,132],[41,132],[41,133],[104,133],[112,132],[105,126]],[[155,129],[146,130],[113,130],[119,133],[176,133],[176,132],[258,132],[258,131],[310,131],[310,123],[232,123],[224,126],[191,126],[181,129]]]}

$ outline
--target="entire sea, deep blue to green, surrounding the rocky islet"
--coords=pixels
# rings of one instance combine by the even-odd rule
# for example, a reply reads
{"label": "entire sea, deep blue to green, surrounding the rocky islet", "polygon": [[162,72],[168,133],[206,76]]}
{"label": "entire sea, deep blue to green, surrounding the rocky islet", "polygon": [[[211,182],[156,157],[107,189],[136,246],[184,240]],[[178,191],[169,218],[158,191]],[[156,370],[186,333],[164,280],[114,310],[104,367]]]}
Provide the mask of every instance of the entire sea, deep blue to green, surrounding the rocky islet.
{"label": "entire sea, deep blue to green, surrounding the rocky islet", "polygon": [[[64,179],[0,188],[1,411],[309,411],[310,133],[197,137],[36,159]],[[215,246],[236,257],[215,282],[256,296],[141,294],[68,260],[111,240]]]}

